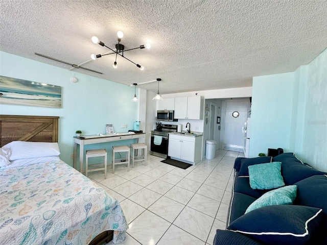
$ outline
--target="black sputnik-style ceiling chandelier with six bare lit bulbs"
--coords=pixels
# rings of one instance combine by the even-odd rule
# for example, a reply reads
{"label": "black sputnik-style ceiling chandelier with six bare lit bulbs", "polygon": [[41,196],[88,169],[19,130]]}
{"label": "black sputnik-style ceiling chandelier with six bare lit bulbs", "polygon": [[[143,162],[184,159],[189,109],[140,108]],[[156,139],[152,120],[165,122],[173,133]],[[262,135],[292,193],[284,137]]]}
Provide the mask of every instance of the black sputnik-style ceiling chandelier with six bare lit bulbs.
{"label": "black sputnik-style ceiling chandelier with six bare lit bulbs", "polygon": [[133,61],[131,61],[130,59],[127,59],[125,56],[124,56],[124,51],[130,51],[130,50],[136,50],[137,48],[140,48],[142,50],[142,48],[150,48],[151,47],[151,44],[149,42],[147,42],[145,45],[140,45],[139,47],[135,47],[135,48],[130,48],[129,50],[125,50],[125,46],[123,44],[121,44],[120,42],[122,41],[122,38],[124,36],[123,32],[122,31],[118,31],[117,32],[117,36],[118,36],[118,43],[116,43],[115,45],[115,48],[116,48],[116,51],[112,50],[110,47],[106,46],[102,41],[99,40],[99,38],[97,37],[92,37],[92,42],[94,43],[99,43],[101,46],[105,46],[107,48],[109,48],[109,50],[111,50],[113,53],[109,53],[109,54],[103,54],[103,55],[91,55],[91,58],[93,60],[97,59],[97,58],[100,58],[102,56],[105,56],[105,55],[112,55],[112,54],[116,54],[116,58],[113,62],[113,67],[114,68],[117,68],[117,56],[120,55],[121,57],[125,58],[126,60],[132,62],[134,65],[136,65],[139,69],[143,70],[144,67],[142,65],[139,65],[139,64],[136,64],[134,63]]}

